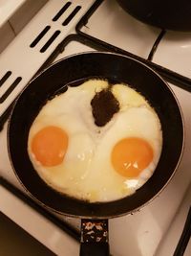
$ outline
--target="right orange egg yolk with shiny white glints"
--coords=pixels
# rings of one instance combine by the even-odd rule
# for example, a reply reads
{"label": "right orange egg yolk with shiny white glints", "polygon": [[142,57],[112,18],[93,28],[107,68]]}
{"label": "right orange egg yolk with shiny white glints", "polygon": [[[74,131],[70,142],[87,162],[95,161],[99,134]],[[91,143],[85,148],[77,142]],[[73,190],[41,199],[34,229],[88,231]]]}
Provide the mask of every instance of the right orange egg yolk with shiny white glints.
{"label": "right orange egg yolk with shiny white glints", "polygon": [[147,141],[141,138],[124,138],[115,145],[111,160],[119,175],[133,178],[151,163],[153,149]]}

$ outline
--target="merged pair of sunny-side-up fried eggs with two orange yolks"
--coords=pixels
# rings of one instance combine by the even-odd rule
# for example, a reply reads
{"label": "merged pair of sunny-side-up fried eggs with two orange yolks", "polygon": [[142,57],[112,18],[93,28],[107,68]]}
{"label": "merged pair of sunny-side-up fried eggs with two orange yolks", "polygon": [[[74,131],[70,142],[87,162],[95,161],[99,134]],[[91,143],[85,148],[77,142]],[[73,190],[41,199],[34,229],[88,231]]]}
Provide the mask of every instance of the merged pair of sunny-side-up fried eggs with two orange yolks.
{"label": "merged pair of sunny-side-up fried eggs with two orange yolks", "polygon": [[38,175],[70,197],[111,201],[132,195],[153,175],[162,147],[159,117],[126,84],[111,91],[119,111],[97,127],[91,101],[108,81],[90,80],[55,96],[32,123],[28,152]]}

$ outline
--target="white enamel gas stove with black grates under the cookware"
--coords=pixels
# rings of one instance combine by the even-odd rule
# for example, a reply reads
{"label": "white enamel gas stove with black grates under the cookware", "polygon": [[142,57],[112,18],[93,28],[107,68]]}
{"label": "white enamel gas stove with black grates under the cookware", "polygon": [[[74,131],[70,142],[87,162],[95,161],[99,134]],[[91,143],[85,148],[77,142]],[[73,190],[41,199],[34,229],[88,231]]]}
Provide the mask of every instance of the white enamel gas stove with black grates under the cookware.
{"label": "white enamel gas stove with black grates under the cookware", "polygon": [[[146,63],[169,82],[183,113],[185,148],[176,175],[159,198],[133,215],[109,221],[111,254],[173,255],[191,201],[191,33],[145,25],[113,0],[39,1],[38,10],[19,30],[18,13],[34,10],[36,1],[23,2],[4,24],[11,26],[14,36],[0,47],[0,210],[56,255],[78,254],[80,221],[35,205],[13,174],[7,118],[17,95],[53,61],[87,51],[120,53]],[[190,251],[188,244],[184,255]]]}

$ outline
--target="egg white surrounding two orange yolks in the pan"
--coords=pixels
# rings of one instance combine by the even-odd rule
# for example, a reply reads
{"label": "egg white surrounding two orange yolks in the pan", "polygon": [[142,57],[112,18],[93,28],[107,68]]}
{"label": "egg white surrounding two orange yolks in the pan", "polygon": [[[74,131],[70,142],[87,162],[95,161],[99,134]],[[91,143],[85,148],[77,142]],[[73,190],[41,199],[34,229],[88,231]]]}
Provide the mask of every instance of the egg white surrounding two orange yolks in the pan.
{"label": "egg white surrounding two orange yolks in the pan", "polygon": [[[159,118],[146,100],[132,88],[117,84],[112,92],[120,111],[104,127],[96,127],[91,100],[107,88],[107,81],[86,81],[53,98],[40,110],[29,133],[28,152],[34,169],[50,186],[74,198],[110,201],[129,196],[153,174],[159,161],[162,133]],[[41,128],[63,128],[69,137],[64,161],[43,167],[32,152],[32,138]],[[126,137],[148,141],[154,151],[152,163],[134,178],[118,175],[111,152]]]}

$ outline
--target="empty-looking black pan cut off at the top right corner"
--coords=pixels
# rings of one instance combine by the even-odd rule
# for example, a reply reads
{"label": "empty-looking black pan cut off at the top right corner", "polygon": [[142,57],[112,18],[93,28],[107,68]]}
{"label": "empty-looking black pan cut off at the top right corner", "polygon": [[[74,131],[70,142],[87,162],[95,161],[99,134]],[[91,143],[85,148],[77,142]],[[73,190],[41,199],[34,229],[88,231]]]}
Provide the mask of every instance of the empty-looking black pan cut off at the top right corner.
{"label": "empty-looking black pan cut off at the top right corner", "polygon": [[160,29],[190,32],[190,0],[117,0],[120,6],[140,21]]}

